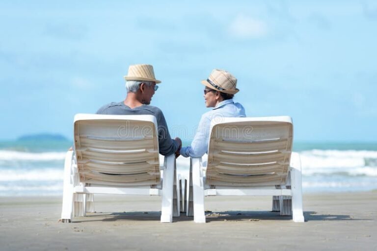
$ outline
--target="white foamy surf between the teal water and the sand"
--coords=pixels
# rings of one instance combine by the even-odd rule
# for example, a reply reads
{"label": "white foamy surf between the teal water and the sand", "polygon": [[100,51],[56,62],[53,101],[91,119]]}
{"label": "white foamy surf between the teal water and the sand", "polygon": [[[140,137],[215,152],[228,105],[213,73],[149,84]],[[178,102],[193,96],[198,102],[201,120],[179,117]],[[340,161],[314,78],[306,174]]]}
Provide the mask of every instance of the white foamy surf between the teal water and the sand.
{"label": "white foamy surf between the teal water and the sand", "polygon": [[[4,162],[0,168],[0,195],[60,194],[65,154],[0,150],[0,162]],[[300,156],[303,188],[306,191],[377,187],[377,151],[310,150],[300,152]],[[207,155],[203,157],[203,162],[206,159]],[[46,162],[55,160],[61,165]],[[178,173],[188,177],[190,159],[179,157],[176,161]],[[160,162],[163,163],[162,156]],[[44,167],[46,164],[50,167]]]}

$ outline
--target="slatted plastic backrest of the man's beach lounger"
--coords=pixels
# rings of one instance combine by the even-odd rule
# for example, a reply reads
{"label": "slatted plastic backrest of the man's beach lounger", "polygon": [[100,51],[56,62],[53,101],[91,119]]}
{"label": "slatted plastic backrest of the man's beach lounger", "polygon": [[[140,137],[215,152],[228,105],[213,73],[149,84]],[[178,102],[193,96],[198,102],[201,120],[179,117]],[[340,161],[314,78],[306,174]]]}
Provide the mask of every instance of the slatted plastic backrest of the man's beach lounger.
{"label": "slatted plastic backrest of the man's beach lounger", "polygon": [[74,141],[80,182],[87,186],[160,183],[153,115],[77,114]]}

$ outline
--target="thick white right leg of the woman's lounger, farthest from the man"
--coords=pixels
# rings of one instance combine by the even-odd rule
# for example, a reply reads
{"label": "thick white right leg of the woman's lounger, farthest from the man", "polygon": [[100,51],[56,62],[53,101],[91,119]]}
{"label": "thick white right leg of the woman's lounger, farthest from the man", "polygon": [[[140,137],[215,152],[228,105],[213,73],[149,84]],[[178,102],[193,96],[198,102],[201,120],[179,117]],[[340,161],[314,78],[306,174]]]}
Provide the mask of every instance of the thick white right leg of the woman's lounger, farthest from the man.
{"label": "thick white right leg of the woman's lounger, farthest from the man", "polygon": [[292,218],[294,222],[304,222],[302,211],[301,161],[298,153],[291,157]]}

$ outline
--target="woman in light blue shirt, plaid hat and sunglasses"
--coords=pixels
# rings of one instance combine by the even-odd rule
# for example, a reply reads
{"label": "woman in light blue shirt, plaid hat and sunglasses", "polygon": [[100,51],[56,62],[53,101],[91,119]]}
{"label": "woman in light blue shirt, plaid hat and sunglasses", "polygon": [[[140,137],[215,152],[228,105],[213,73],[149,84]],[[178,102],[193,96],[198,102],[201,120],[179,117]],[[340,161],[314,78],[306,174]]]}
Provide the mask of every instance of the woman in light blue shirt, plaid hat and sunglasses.
{"label": "woman in light blue shirt, plaid hat and sunglasses", "polygon": [[243,106],[233,101],[234,94],[240,90],[236,88],[237,78],[230,72],[214,69],[202,84],[206,86],[204,89],[206,107],[213,109],[202,115],[191,145],[181,148],[180,154],[183,157],[201,157],[207,152],[212,119],[246,116]]}

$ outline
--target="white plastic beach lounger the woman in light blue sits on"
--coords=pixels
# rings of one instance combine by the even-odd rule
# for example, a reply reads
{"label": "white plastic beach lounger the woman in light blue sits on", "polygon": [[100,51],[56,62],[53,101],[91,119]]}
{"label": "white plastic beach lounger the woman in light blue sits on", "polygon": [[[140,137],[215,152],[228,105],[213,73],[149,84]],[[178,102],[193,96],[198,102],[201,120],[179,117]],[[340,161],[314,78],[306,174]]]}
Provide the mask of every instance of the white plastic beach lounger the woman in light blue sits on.
{"label": "white plastic beach lounger the woman in light blue sits on", "polygon": [[[205,223],[205,196],[273,196],[272,211],[304,222],[301,163],[289,116],[212,121],[208,163],[191,158],[187,215]],[[192,194],[193,193],[193,194]]]}

